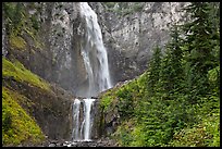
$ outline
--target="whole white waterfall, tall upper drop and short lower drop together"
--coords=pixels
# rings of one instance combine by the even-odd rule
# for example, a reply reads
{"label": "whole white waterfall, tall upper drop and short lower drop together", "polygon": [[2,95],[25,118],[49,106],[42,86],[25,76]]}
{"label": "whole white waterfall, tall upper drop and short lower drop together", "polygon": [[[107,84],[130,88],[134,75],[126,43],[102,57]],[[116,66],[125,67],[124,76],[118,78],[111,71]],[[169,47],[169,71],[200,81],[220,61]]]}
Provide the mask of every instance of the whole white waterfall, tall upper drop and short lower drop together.
{"label": "whole white waterfall, tall upper drop and short lower drop together", "polygon": [[[75,99],[73,102],[73,140],[90,140],[92,126],[92,104],[99,92],[112,87],[110,80],[107,50],[103,46],[101,28],[97,14],[87,2],[81,2],[81,18],[84,24],[83,38],[81,39],[81,54],[87,73],[87,85],[76,92],[85,97],[83,101]],[[81,102],[84,104],[83,119],[79,119]],[[76,122],[78,121],[78,122]],[[82,121],[82,123],[81,123]],[[79,124],[81,127],[79,127]]]}

